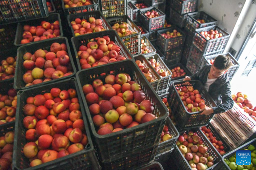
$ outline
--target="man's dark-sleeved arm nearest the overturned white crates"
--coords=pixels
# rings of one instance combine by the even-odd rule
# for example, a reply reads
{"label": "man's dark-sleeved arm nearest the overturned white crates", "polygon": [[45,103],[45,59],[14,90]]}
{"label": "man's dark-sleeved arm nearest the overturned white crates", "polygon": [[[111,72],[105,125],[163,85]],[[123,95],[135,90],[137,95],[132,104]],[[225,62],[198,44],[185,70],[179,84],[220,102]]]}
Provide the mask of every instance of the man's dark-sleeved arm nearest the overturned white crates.
{"label": "man's dark-sleeved arm nearest the overturned white crates", "polygon": [[220,105],[212,107],[214,113],[224,113],[233,108],[234,101],[231,97],[230,82],[226,82],[221,87],[221,100],[222,103]]}

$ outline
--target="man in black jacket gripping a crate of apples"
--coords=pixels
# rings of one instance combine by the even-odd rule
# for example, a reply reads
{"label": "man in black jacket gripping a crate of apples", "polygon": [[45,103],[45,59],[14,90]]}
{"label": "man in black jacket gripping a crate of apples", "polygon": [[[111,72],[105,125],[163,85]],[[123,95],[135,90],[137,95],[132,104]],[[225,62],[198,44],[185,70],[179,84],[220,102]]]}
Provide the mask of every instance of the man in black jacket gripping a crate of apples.
{"label": "man in black jacket gripping a crate of apples", "polygon": [[231,97],[230,80],[226,74],[231,65],[232,61],[229,56],[219,55],[215,58],[213,65],[205,65],[193,76],[186,76],[183,79],[183,81],[201,81],[217,104],[216,107],[201,109],[203,111],[201,114],[223,113],[233,108],[234,102]]}

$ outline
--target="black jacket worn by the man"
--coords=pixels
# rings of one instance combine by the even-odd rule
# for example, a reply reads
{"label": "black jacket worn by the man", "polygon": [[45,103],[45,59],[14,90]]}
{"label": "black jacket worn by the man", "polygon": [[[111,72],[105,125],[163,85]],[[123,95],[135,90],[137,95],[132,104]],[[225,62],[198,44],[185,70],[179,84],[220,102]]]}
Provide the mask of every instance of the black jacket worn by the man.
{"label": "black jacket worn by the man", "polygon": [[[212,65],[205,65],[204,68],[191,77],[191,80],[200,80],[201,83],[205,85],[211,66]],[[212,107],[214,113],[223,113],[233,108],[234,101],[231,97],[230,81],[226,73],[218,77],[218,79],[209,86],[208,93],[217,104],[217,107]]]}

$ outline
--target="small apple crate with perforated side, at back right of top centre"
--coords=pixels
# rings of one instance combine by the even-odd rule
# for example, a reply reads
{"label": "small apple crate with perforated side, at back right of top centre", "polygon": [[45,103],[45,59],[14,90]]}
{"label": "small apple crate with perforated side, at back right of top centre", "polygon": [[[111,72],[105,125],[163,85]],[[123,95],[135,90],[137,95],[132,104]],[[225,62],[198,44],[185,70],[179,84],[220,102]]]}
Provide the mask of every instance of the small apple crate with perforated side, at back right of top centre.
{"label": "small apple crate with perforated side, at back right of top centre", "polygon": [[[160,16],[155,18],[148,18],[147,16],[145,16],[144,13],[151,10],[157,11]],[[145,28],[149,32],[156,31],[164,28],[165,14],[155,7],[144,8],[144,9],[140,9],[139,20],[140,20],[140,23],[143,24],[143,26],[145,26]]]}

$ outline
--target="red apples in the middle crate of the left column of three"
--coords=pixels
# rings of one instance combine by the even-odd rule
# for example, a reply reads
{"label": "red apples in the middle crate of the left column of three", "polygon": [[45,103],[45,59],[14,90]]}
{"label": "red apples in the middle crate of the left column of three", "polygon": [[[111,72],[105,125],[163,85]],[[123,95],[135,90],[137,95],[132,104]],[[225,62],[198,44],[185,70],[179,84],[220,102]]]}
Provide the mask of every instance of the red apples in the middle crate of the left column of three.
{"label": "red apples in the middle crate of the left column of three", "polygon": [[23,59],[23,68],[26,69],[23,75],[25,87],[73,74],[67,46],[64,43],[52,43],[50,51],[39,49],[33,55],[27,52]]}

